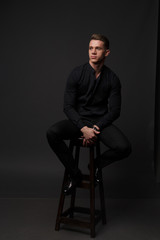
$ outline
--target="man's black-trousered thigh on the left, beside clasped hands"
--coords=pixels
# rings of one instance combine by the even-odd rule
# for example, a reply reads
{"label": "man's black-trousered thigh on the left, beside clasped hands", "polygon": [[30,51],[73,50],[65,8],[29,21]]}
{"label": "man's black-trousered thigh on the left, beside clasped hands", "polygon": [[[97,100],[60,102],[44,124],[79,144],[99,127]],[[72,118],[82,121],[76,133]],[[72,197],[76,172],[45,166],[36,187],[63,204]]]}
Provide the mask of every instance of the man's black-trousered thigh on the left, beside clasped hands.
{"label": "man's black-trousered thigh on the left, beside clasped hands", "polygon": [[51,135],[56,134],[63,140],[80,137],[82,135],[79,128],[76,127],[70,120],[59,121],[53,124],[48,131]]}

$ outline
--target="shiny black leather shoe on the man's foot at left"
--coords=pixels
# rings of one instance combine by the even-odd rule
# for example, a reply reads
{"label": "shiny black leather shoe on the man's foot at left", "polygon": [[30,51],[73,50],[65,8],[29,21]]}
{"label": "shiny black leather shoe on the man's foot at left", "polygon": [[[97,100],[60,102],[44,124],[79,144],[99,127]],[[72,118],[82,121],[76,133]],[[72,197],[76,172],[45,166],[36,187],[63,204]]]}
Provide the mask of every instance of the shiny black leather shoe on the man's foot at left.
{"label": "shiny black leather shoe on the man's foot at left", "polygon": [[64,185],[63,193],[65,195],[70,195],[74,191],[75,187],[81,182],[82,174],[78,173],[75,178],[71,178],[70,176],[67,179],[67,182]]}

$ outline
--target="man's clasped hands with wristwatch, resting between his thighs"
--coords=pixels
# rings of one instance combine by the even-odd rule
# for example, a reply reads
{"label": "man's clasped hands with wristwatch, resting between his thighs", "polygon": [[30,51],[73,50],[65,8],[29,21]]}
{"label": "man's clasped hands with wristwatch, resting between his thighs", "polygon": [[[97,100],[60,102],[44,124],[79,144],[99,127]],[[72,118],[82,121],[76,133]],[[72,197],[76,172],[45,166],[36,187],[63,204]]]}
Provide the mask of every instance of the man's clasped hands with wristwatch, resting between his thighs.
{"label": "man's clasped hands with wristwatch, resting between his thighs", "polygon": [[87,126],[81,128],[81,132],[83,133],[83,146],[91,146],[97,140],[97,134],[100,133],[99,127],[94,125],[93,128],[89,128]]}

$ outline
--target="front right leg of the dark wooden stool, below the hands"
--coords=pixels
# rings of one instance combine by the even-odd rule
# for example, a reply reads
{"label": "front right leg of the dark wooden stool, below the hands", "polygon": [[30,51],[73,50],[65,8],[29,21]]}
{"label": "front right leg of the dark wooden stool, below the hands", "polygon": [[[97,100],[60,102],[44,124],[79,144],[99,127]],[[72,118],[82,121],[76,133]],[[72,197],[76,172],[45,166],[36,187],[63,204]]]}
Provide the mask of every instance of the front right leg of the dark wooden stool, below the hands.
{"label": "front right leg of the dark wooden stool, below the hands", "polygon": [[95,182],[94,182],[94,147],[90,147],[90,223],[91,237],[95,237]]}

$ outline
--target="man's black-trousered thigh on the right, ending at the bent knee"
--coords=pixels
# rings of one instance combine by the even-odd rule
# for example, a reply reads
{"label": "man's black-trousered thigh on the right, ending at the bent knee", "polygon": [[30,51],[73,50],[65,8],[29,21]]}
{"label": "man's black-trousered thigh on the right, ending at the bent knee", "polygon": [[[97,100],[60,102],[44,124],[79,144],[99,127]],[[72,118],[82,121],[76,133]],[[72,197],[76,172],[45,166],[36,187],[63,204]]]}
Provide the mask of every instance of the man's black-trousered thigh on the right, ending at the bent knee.
{"label": "man's black-trousered thigh on the right, ending at the bent knee", "polygon": [[112,149],[115,149],[117,147],[123,149],[130,145],[130,142],[123,134],[123,132],[113,124],[107,126],[102,130],[99,135],[99,139],[106,146]]}

